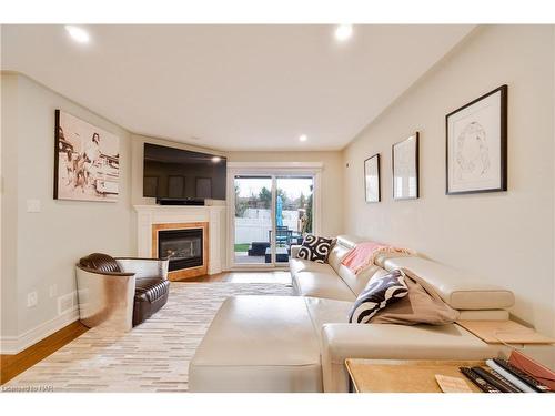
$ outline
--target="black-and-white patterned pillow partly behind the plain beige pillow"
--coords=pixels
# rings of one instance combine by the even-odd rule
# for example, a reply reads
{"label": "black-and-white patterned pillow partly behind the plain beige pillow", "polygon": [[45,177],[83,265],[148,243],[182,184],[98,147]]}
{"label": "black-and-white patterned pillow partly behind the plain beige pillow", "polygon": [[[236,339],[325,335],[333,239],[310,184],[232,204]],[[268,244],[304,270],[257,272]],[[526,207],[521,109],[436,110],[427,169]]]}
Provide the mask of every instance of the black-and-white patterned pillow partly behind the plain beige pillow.
{"label": "black-and-white patterned pillow partly behind the plain beige pillow", "polygon": [[349,322],[367,324],[385,306],[406,296],[408,287],[404,273],[395,270],[383,277],[371,280],[349,313]]}

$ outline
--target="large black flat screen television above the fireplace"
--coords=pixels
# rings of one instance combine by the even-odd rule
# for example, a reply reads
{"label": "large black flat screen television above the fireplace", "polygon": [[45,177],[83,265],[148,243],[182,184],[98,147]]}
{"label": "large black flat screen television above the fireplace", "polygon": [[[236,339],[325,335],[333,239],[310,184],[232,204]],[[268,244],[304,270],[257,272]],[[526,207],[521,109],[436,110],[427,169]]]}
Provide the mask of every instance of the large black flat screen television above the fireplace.
{"label": "large black flat screen television above the fireplace", "polygon": [[143,196],[157,200],[225,200],[223,156],[144,143]]}

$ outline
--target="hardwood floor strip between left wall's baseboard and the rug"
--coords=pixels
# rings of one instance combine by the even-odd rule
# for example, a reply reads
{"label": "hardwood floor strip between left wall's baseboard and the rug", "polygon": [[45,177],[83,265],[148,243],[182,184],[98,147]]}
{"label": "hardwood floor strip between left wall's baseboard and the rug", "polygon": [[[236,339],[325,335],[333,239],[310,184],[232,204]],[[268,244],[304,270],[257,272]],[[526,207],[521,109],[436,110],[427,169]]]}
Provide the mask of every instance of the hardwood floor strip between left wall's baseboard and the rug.
{"label": "hardwood floor strip between left wall's baseboard and the rug", "polygon": [[79,321],[69,324],[29,348],[14,355],[0,355],[0,385],[57,352],[65,344],[84,334],[89,328]]}

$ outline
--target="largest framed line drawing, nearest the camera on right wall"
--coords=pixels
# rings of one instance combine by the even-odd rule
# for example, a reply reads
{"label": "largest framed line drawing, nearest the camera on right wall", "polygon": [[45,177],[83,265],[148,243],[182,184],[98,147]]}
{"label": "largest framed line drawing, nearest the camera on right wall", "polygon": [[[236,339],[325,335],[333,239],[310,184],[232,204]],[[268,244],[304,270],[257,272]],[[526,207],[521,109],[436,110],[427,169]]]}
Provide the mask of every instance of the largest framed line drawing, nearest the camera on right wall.
{"label": "largest framed line drawing, nearest the camera on right wall", "polygon": [[447,195],[507,190],[507,85],[445,116]]}

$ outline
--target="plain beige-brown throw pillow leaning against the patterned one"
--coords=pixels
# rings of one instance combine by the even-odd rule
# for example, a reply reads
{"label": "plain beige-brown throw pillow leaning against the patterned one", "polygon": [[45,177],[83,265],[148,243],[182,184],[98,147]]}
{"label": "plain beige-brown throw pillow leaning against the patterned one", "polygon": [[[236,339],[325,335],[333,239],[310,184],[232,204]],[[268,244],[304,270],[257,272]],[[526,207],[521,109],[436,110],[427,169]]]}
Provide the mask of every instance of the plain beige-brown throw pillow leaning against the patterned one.
{"label": "plain beige-brown throw pillow leaning against the patterned one", "polygon": [[377,312],[371,324],[445,325],[458,318],[458,311],[448,306],[438,295],[427,293],[420,283],[406,275],[405,284],[408,294]]}

